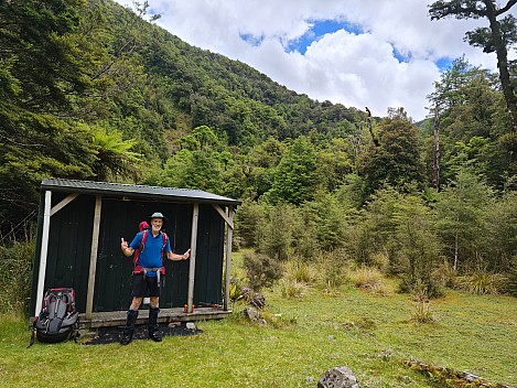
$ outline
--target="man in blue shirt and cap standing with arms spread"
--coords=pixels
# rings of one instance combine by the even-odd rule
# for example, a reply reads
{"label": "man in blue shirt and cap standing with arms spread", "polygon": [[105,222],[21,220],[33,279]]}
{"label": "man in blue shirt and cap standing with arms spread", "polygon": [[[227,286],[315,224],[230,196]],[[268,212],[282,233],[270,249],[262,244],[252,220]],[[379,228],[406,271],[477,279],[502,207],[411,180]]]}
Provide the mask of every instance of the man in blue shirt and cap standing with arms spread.
{"label": "man in blue shirt and cap standing with arms spread", "polygon": [[[160,270],[162,269],[162,255],[165,252],[166,258],[173,261],[187,260],[191,256],[189,248],[183,255],[172,252],[169,237],[161,230],[163,226],[163,214],[154,213],[150,217],[151,229],[142,230],[134,236],[130,245],[121,238],[120,248],[127,257],[136,254],[134,272],[132,284],[132,301],[128,310],[126,327],[123,328],[120,344],[128,345],[134,333],[134,324],[137,323],[138,309],[142,303],[146,292],[149,292],[149,338],[160,342],[162,341],[158,332],[158,313],[160,312]],[[142,240],[144,244],[142,244]]]}

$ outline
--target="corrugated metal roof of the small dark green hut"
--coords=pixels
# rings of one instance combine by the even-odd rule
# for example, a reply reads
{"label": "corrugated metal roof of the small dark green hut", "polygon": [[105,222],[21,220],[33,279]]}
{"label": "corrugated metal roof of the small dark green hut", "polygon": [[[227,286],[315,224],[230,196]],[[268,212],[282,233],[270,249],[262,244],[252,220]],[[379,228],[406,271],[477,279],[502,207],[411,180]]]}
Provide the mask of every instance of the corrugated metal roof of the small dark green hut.
{"label": "corrugated metal roof of the small dark green hut", "polygon": [[120,195],[130,198],[166,198],[169,201],[198,202],[225,206],[236,206],[241,204],[241,201],[231,200],[201,190],[147,186],[125,183],[45,179],[41,183],[41,188],[78,194]]}

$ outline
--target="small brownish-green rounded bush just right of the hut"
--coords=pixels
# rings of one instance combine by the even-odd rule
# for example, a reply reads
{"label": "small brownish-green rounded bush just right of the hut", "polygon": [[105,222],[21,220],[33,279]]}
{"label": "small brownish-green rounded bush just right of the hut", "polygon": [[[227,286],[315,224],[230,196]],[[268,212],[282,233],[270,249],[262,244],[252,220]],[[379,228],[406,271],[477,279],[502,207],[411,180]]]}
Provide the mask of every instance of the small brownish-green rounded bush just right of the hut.
{"label": "small brownish-green rounded bush just right of the hut", "polygon": [[261,254],[246,254],[244,256],[244,268],[249,281],[249,288],[254,291],[271,287],[274,281],[282,277],[281,263]]}

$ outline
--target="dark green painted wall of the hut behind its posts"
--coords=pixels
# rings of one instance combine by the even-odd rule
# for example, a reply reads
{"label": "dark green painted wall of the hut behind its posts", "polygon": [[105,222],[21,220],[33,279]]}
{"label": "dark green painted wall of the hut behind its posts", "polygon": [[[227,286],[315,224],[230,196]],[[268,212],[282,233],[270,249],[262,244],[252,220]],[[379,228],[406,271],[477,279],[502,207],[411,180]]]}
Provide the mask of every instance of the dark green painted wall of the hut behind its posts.
{"label": "dark green painted wall of the hut behind its posts", "polygon": [[[53,193],[52,206],[68,194]],[[42,193],[41,203],[44,202]],[[79,195],[51,217],[49,256],[44,290],[73,287],[77,308],[86,311],[95,195]],[[166,217],[164,229],[174,252],[183,254],[191,244],[192,204],[146,200],[122,201],[103,197],[103,211],[95,279],[94,312],[127,310],[131,300],[132,258],[120,251],[120,238],[131,241],[138,224],[154,212]],[[43,205],[40,206],[36,257],[30,314],[34,314],[40,263]],[[212,205],[200,205],[196,247],[194,305],[222,303],[225,224]],[[187,299],[190,260],[165,262],[160,298],[162,309],[183,306]]]}

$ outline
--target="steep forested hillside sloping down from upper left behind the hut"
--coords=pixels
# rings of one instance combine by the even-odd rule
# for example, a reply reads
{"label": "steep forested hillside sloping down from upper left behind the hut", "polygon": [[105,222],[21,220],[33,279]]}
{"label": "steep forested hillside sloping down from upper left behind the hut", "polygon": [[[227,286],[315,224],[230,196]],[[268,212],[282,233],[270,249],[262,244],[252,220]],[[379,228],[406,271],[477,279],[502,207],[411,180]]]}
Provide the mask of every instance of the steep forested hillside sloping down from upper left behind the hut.
{"label": "steep forested hillside sloping down from upper left behind the hut", "polygon": [[36,208],[43,177],[142,182],[198,126],[240,149],[351,133],[365,117],[191,46],[140,19],[144,9],[83,4],[0,6],[3,234]]}

